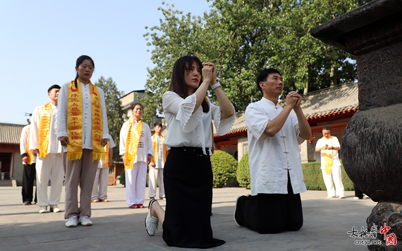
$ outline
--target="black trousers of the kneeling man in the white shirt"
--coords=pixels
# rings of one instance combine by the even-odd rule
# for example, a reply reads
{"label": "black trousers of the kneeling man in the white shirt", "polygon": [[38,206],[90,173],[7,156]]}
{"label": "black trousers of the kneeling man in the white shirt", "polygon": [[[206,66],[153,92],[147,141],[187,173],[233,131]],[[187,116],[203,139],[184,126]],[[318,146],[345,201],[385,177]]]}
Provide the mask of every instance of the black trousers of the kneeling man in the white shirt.
{"label": "black trousers of the kneeling man in the white shirt", "polygon": [[297,231],[303,226],[300,194],[293,194],[288,174],[287,194],[257,194],[237,200],[236,221],[259,233]]}

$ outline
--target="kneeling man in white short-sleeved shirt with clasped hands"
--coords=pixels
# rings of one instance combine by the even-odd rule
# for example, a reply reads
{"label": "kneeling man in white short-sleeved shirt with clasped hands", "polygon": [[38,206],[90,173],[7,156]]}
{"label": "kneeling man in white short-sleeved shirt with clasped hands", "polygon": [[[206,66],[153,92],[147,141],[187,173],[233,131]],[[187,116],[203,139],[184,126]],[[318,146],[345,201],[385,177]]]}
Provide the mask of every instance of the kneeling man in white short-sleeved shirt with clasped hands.
{"label": "kneeling man in white short-sleeved shirt with clasped hands", "polygon": [[263,97],[245,113],[251,196],[237,198],[234,219],[259,233],[296,231],[303,226],[299,193],[307,191],[298,144],[311,138],[311,128],[297,92],[286,95],[283,108],[278,104],[283,90],[279,71],[263,70],[256,84]]}

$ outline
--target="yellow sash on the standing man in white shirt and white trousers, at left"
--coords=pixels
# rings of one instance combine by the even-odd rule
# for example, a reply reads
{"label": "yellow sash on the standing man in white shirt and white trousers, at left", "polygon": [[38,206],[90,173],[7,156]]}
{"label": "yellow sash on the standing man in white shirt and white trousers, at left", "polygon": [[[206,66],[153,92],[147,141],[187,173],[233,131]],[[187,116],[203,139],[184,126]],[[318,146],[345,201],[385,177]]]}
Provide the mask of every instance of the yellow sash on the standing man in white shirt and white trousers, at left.
{"label": "yellow sash on the standing man in white shirt and white trousers, at left", "polygon": [[49,103],[39,110],[39,157],[45,158],[49,147],[50,117],[52,105]]}

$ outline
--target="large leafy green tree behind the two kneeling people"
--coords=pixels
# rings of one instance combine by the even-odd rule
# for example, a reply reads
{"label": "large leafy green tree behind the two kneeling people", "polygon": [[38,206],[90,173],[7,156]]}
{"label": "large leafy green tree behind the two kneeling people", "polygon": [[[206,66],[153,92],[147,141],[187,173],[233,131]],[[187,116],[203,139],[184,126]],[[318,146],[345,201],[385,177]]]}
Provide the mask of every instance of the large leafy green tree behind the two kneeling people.
{"label": "large leafy green tree behind the two kneeling people", "polygon": [[[309,92],[353,81],[357,77],[353,55],[313,38],[312,28],[349,12],[362,0],[214,0],[204,17],[183,15],[173,5],[159,8],[160,26],[144,36],[155,67],[148,68],[142,101],[151,116],[161,113],[162,95],[170,84],[174,62],[195,55],[214,62],[217,80],[237,111],[261,98],[255,78],[264,68],[277,68],[284,93]],[[217,102],[213,91],[208,95]],[[151,114],[152,113],[152,114]]]}

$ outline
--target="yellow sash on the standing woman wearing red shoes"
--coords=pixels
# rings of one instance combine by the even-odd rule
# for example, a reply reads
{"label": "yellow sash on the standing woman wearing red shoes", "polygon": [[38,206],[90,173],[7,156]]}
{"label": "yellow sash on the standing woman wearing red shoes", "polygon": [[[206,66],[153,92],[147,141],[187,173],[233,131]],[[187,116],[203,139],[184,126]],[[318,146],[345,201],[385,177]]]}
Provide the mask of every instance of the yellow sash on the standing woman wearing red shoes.
{"label": "yellow sash on the standing woman wearing red shoes", "polygon": [[134,118],[129,120],[129,129],[126,138],[126,153],[124,154],[124,169],[133,169],[133,163],[137,156],[138,143],[142,134],[142,120],[138,122],[138,126],[134,129]]}

